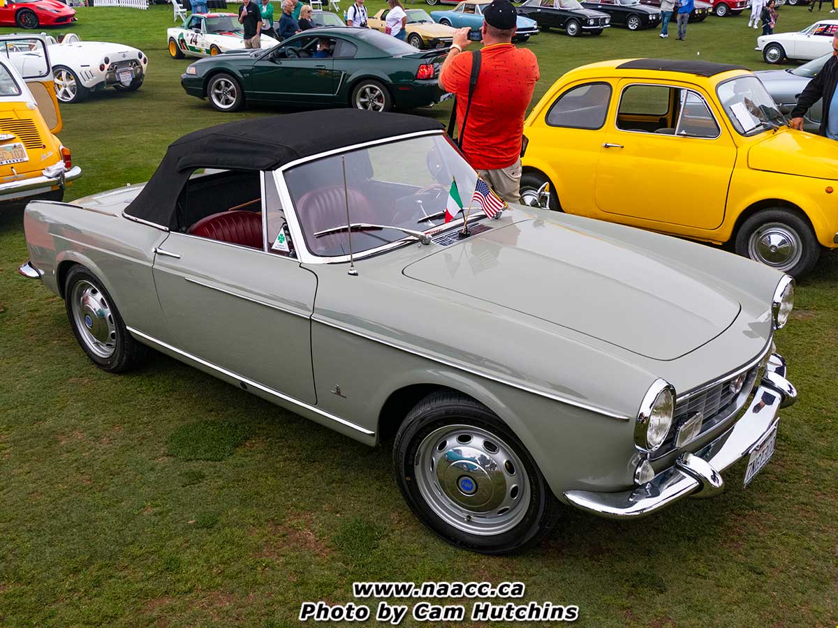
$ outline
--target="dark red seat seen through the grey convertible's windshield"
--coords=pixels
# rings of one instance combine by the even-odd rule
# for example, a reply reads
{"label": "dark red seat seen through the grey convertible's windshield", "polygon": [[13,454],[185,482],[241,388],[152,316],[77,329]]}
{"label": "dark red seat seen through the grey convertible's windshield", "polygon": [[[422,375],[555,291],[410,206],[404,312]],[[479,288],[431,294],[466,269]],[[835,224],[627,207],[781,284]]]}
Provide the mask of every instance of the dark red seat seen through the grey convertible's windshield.
{"label": "dark red seat seen through the grey convertible's windshield", "polygon": [[317,254],[334,248],[342,248],[346,241],[346,234],[324,235],[315,238],[318,231],[338,227],[346,224],[346,200],[349,198],[349,219],[353,223],[373,223],[376,221],[375,207],[363,193],[344,186],[333,185],[327,188],[316,188],[303,194],[297,203],[297,214],[303,223],[303,229],[309,242],[314,243],[312,252]]}

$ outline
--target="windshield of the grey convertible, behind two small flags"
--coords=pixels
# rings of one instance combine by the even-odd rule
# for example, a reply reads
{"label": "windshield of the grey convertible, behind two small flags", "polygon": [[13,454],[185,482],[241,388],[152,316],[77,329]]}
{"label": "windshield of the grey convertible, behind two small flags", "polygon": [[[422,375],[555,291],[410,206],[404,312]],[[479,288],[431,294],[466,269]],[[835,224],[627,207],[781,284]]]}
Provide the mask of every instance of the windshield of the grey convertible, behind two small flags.
{"label": "windshield of the grey convertible, behind two small flags", "polygon": [[[420,232],[445,229],[445,208],[453,186],[468,208],[477,174],[447,136],[437,133],[305,162],[287,170],[285,181],[308,250],[338,257],[349,255],[350,234],[334,229],[347,222]],[[462,224],[462,215],[454,216],[448,226]],[[472,209],[468,222],[482,216],[479,208]],[[321,234],[324,231],[333,232]],[[397,240],[411,241],[398,229],[359,227],[351,236],[355,255]]]}

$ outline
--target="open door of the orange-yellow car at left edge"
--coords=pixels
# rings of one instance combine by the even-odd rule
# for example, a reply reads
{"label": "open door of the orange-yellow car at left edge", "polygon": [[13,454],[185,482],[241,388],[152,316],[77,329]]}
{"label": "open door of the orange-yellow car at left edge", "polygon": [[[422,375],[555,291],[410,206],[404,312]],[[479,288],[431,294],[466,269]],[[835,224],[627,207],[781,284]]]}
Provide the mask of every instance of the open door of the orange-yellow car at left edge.
{"label": "open door of the orange-yellow car at left edge", "polygon": [[55,95],[46,39],[41,35],[3,35],[0,37],[0,54],[11,61],[23,76],[49,131],[61,131],[61,111]]}

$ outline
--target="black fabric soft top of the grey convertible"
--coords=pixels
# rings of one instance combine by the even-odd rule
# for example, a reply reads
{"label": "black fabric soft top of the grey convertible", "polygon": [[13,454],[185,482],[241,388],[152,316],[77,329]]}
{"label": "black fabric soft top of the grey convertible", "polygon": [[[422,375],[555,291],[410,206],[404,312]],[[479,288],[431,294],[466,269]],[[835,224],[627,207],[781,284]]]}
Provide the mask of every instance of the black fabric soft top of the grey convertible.
{"label": "black fabric soft top of the grey convertible", "polygon": [[440,130],[442,124],[432,118],[357,109],[304,111],[210,126],[169,145],[125,214],[173,227],[178,195],[196,168],[270,171],[355,144]]}

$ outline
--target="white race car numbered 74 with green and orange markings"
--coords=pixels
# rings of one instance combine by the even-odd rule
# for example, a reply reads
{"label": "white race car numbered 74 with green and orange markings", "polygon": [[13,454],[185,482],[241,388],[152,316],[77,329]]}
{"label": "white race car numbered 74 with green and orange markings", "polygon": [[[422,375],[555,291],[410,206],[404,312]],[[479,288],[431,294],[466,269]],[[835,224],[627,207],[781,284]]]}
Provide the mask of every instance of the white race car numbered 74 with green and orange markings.
{"label": "white race car numbered 74 with green and orange markings", "polygon": [[[169,28],[168,54],[173,59],[209,57],[241,50],[245,47],[245,32],[235,13],[193,13],[180,28]],[[262,35],[262,48],[273,48],[279,42]]]}

